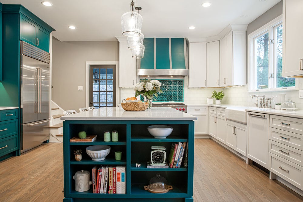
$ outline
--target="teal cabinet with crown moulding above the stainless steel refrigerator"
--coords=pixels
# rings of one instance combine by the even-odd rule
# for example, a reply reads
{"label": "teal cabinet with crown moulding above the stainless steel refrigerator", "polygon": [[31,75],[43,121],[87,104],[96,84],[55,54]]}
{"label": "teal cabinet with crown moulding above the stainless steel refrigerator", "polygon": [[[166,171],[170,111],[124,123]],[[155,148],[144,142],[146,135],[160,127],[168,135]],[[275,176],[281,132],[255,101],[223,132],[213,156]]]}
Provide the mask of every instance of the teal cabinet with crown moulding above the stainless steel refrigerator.
{"label": "teal cabinet with crown moulding above the stainless steel refrigerator", "polygon": [[49,34],[54,31],[22,5],[3,5],[3,13],[20,16],[20,40],[49,52]]}

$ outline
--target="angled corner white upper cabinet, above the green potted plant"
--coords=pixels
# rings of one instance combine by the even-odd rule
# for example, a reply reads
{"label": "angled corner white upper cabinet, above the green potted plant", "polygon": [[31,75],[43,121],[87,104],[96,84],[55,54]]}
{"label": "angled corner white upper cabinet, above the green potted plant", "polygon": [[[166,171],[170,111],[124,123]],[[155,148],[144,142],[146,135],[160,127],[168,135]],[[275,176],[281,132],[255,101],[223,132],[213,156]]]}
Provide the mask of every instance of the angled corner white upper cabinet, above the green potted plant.
{"label": "angled corner white upper cabinet, above the green potted plant", "polygon": [[220,41],[207,43],[206,47],[206,86],[220,86]]}

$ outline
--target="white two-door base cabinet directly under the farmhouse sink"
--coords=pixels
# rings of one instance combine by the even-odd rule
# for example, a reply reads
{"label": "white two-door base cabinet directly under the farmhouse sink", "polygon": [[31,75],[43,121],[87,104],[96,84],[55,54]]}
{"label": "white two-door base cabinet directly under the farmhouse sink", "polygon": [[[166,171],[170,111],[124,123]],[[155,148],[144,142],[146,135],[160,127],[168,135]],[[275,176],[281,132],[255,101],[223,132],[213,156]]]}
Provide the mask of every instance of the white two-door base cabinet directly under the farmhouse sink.
{"label": "white two-door base cabinet directly under the farmhouse sink", "polygon": [[227,120],[226,145],[246,156],[247,125]]}

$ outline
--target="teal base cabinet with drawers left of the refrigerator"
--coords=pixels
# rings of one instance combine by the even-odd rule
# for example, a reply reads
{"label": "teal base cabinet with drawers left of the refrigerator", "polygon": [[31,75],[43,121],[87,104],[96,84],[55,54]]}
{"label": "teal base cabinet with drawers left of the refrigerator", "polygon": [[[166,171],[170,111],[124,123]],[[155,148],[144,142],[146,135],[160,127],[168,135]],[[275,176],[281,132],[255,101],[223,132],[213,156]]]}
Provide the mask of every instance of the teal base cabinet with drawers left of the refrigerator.
{"label": "teal base cabinet with drawers left of the refrigerator", "polygon": [[20,155],[18,109],[0,110],[0,161]]}

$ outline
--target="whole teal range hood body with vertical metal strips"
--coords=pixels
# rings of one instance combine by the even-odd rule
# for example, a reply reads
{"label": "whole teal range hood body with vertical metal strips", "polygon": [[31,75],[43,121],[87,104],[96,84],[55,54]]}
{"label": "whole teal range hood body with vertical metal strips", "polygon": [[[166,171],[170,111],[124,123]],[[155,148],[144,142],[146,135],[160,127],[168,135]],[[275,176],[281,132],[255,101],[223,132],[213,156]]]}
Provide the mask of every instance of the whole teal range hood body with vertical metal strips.
{"label": "whole teal range hood body with vertical metal strips", "polygon": [[141,69],[187,69],[184,38],[144,38]]}

